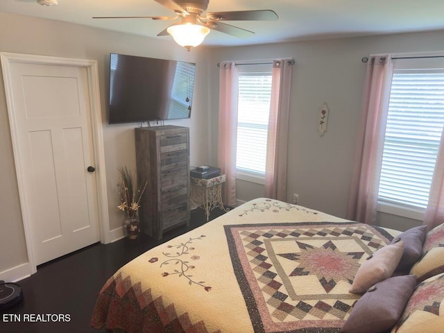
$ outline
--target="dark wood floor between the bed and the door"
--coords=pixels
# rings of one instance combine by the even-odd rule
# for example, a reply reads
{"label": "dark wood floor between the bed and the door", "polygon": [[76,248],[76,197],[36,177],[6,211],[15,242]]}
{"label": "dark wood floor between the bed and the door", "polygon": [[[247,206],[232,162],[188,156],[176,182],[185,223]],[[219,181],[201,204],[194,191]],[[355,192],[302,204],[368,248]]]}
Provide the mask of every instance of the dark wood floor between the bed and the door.
{"label": "dark wood floor between the bed and the door", "polygon": [[[211,219],[223,214],[213,210]],[[0,332],[9,333],[93,333],[105,332],[89,327],[96,297],[106,280],[123,264],[164,241],[205,223],[206,216],[201,208],[191,210],[191,221],[186,226],[164,234],[157,241],[141,234],[136,240],[121,239],[112,244],[94,244],[76,253],[37,267],[37,273],[19,282],[24,300],[0,313]],[[19,323],[6,323],[21,317]],[[24,323],[25,314],[69,314],[67,323]],[[6,316],[6,318],[5,318]],[[66,317],[65,317],[66,318]]]}

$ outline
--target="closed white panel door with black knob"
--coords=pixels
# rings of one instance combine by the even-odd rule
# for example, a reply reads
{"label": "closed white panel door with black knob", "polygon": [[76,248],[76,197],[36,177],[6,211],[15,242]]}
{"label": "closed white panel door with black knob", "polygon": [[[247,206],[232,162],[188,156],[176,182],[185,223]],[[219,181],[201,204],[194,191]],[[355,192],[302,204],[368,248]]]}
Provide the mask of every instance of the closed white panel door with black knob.
{"label": "closed white panel door with black knob", "polygon": [[9,79],[38,265],[100,240],[87,70],[12,62]]}

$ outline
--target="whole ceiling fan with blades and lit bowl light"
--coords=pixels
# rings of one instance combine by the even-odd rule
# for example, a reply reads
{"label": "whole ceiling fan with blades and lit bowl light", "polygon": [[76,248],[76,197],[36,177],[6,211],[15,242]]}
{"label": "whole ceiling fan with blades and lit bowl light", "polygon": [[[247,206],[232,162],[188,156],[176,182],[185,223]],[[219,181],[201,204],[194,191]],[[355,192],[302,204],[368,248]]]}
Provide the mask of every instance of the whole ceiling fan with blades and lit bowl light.
{"label": "whole ceiling fan with blades and lit bowl light", "polygon": [[157,34],[157,36],[172,35],[174,40],[187,49],[197,46],[210,29],[227,33],[236,37],[249,37],[253,31],[225,24],[221,21],[274,21],[279,19],[273,10],[238,10],[231,12],[207,12],[210,0],[154,0],[162,6],[173,10],[176,16],[117,16],[93,17],[93,19],[155,19],[173,20],[180,17],[181,22],[173,24]]}

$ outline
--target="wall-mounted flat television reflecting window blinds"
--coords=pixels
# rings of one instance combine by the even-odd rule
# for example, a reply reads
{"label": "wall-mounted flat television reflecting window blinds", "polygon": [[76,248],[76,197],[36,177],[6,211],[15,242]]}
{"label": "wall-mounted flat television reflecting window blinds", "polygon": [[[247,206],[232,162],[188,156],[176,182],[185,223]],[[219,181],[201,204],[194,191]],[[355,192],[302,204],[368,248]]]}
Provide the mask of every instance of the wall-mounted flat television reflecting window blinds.
{"label": "wall-mounted flat television reflecting window blinds", "polygon": [[110,54],[109,123],[191,117],[196,64]]}

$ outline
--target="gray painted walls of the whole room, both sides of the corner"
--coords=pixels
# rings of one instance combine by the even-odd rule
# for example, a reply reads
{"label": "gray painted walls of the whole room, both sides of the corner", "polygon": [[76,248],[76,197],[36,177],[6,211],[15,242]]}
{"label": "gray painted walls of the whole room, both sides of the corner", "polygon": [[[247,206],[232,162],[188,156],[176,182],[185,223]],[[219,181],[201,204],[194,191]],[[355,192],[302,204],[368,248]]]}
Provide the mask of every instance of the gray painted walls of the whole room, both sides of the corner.
{"label": "gray painted walls of the whole room, both sides of the corner", "polygon": [[[191,119],[170,123],[190,128],[191,165],[215,165],[219,103],[216,63],[294,58],[288,195],[291,198],[293,193],[298,193],[301,205],[343,217],[364,80],[361,58],[370,53],[440,51],[444,49],[443,42],[443,32],[432,32],[230,48],[201,46],[190,54],[190,60],[197,63]],[[0,12],[0,51],[98,61],[110,229],[119,228],[122,216],[116,208],[117,167],[135,168],[135,124],[106,124],[109,53],[185,60],[185,49],[168,38],[148,39]],[[319,137],[316,121],[324,101],[330,107],[330,118],[327,133]],[[28,260],[3,79],[0,80],[0,155],[1,277],[2,272]],[[263,196],[264,189],[260,185],[239,182],[238,193],[239,199],[249,200]],[[391,216],[379,214],[382,225],[390,226],[392,221]],[[403,221],[397,221],[396,225],[400,228]]]}

